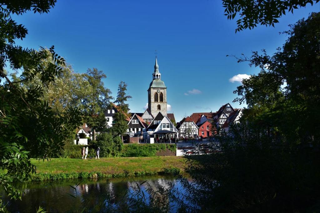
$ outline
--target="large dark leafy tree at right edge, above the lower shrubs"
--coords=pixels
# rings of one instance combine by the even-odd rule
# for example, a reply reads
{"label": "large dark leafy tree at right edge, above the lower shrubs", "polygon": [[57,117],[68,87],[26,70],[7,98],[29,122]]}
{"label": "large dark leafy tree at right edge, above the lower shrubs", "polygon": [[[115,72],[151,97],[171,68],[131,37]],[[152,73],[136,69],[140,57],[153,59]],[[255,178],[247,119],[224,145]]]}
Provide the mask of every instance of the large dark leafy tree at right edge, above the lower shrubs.
{"label": "large dark leafy tree at right edge, above the lower shrubs", "polygon": [[319,26],[320,13],[312,13],[291,25],[285,32],[290,37],[272,57],[263,50],[238,58],[261,70],[234,91],[240,96],[235,101],[248,104],[244,116],[294,143],[320,141],[320,117],[314,113],[320,110]]}

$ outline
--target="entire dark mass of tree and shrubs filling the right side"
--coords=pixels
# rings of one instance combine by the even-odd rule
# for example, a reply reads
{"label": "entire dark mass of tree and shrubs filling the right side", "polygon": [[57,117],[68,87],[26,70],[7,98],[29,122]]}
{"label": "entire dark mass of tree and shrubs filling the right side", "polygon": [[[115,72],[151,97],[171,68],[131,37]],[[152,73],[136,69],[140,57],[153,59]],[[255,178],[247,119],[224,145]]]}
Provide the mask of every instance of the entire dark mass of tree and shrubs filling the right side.
{"label": "entire dark mass of tree and shrubs filling the right side", "polygon": [[205,161],[188,157],[194,183],[181,181],[195,206],[190,211],[318,211],[320,13],[286,33],[272,57],[263,51],[238,58],[261,71],[234,92],[240,96],[235,101],[248,105],[240,123],[216,135],[219,144],[198,147],[213,152]]}

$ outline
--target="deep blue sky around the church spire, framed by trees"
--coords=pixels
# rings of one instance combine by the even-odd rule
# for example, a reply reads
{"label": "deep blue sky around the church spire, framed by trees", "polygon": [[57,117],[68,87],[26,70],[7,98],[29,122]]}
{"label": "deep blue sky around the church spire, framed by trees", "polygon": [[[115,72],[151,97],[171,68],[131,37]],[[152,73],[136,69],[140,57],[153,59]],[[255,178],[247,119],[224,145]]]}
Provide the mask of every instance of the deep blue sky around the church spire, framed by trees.
{"label": "deep blue sky around the church spire, framed by trees", "polygon": [[232,103],[238,74],[258,68],[236,63],[226,55],[268,54],[287,39],[280,34],[298,19],[320,11],[320,4],[287,13],[275,27],[258,26],[235,34],[236,21],[227,20],[220,0],[184,1],[72,1],[58,0],[49,14],[28,12],[14,17],[28,28],[17,44],[39,49],[55,46],[76,72],[98,68],[107,75],[105,86],[116,96],[121,80],[128,84],[132,112],[148,102],[155,50],[167,88],[167,101],[176,120],[193,112],[216,111]]}

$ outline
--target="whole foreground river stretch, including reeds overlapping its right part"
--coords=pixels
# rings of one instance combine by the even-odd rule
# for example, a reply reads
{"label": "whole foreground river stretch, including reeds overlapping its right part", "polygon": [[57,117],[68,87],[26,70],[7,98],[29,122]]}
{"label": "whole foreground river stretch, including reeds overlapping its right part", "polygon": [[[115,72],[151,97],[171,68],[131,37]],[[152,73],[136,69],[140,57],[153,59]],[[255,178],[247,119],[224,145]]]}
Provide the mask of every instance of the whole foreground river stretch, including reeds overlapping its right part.
{"label": "whole foreground river stretch, including reeds overlapping its right part", "polygon": [[0,189],[10,212],[176,212],[184,193],[177,177],[33,182],[21,201],[10,200]]}

